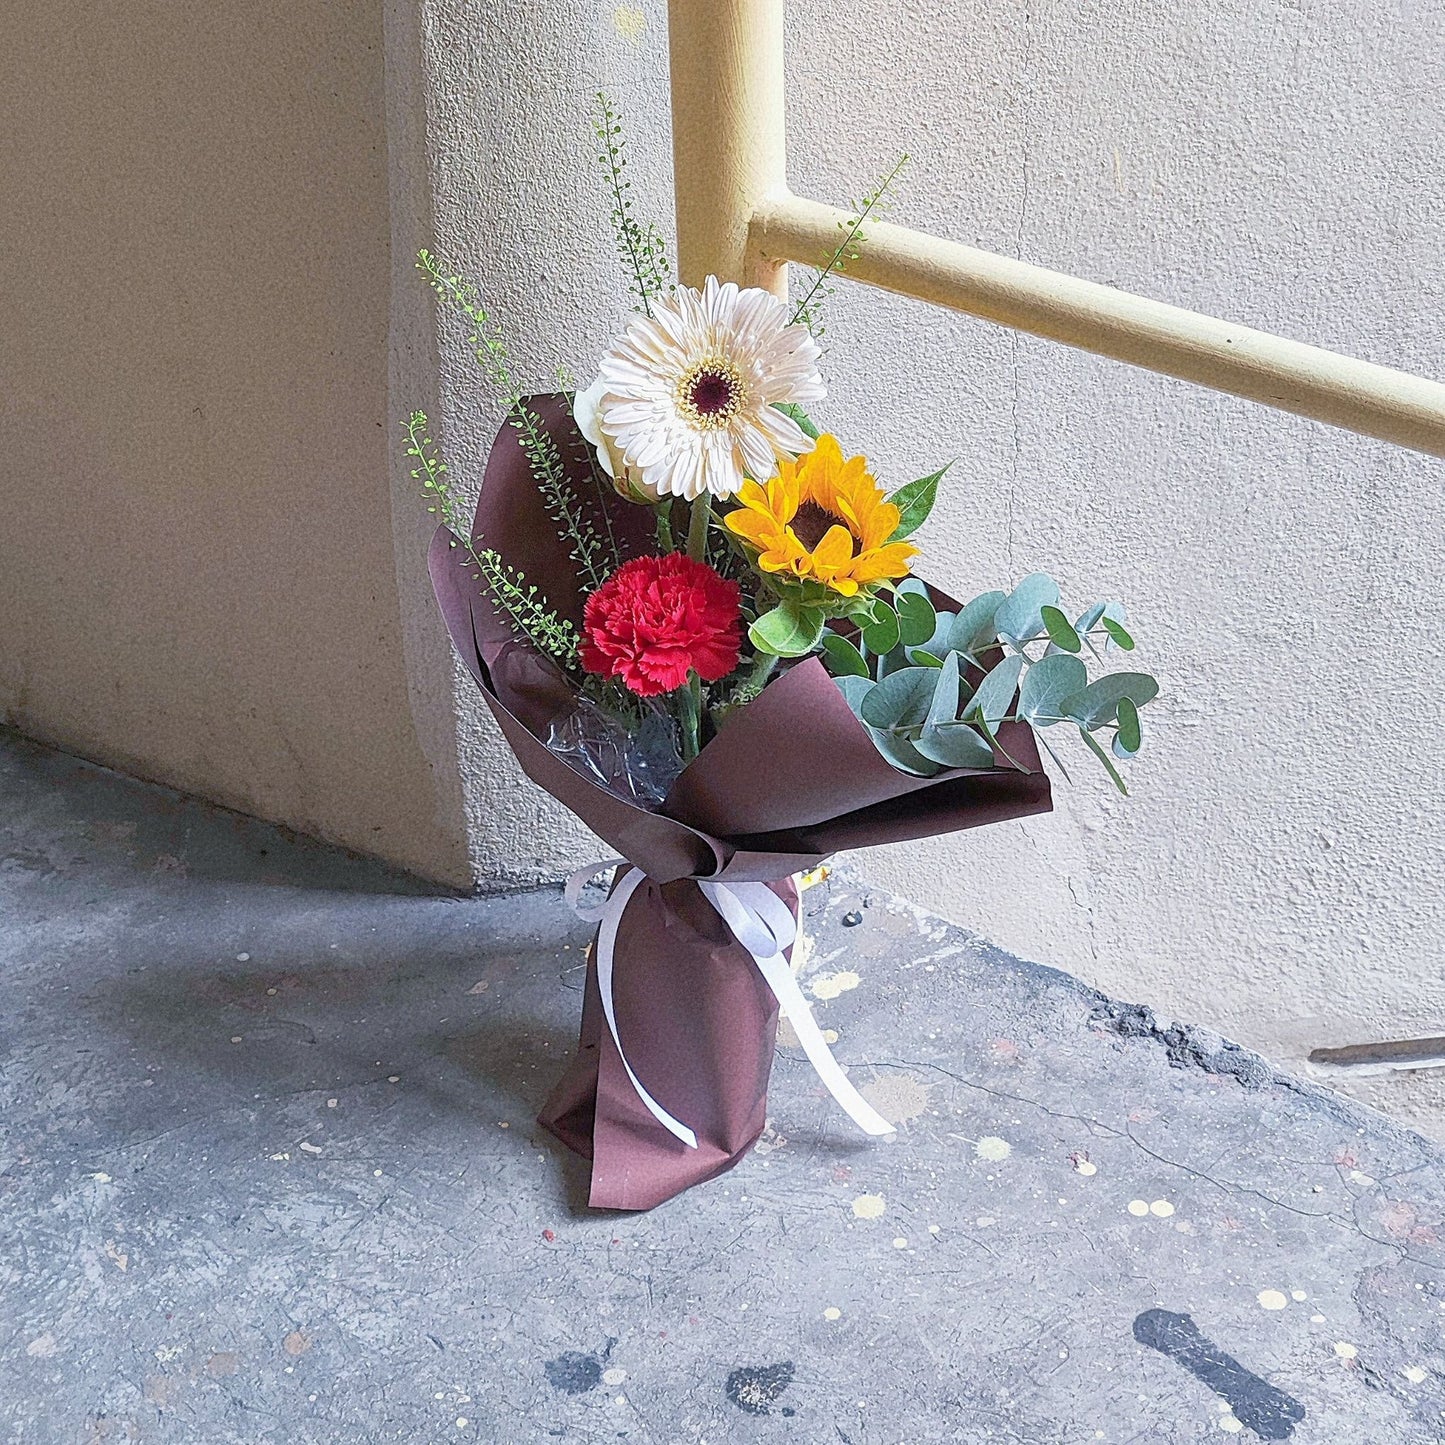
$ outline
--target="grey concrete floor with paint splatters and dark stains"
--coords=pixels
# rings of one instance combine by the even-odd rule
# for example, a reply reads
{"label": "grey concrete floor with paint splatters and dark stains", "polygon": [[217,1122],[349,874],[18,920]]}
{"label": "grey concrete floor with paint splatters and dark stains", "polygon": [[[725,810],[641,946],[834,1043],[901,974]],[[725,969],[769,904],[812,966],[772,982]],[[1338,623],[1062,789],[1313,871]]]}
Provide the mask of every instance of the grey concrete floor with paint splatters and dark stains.
{"label": "grey concrete floor with paint splatters and dark stains", "polygon": [[[866,867],[866,860],[863,864]],[[845,876],[734,1173],[579,1205],[587,931],[0,736],[0,1442],[1445,1441],[1438,1146]]]}

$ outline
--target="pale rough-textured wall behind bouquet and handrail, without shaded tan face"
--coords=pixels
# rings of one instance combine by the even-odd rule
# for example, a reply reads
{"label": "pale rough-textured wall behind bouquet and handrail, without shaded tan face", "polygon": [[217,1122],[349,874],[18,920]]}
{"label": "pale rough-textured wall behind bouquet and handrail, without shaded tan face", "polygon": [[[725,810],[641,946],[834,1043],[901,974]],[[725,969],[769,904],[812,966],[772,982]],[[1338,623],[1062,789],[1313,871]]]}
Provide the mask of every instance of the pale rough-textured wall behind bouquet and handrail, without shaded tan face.
{"label": "pale rough-textured wall behind bouquet and handrail, without shaded tan face", "polygon": [[[799,192],[845,201],[906,147],[905,224],[1445,371],[1435,7],[790,14]],[[539,23],[520,3],[434,4],[429,64],[442,243],[536,376],[561,355],[585,377],[621,288],[582,107],[597,84],[620,98],[639,198],[666,218],[663,7]],[[1081,601],[1121,595],[1166,685],[1131,799],[1081,763],[1053,816],[866,867],[1286,1059],[1441,1032],[1439,464],[861,289],[838,292],[828,344],[825,419],[883,475],[958,458],[931,575],[971,595],[1045,566]],[[444,394],[475,461],[494,415],[461,360]],[[585,845],[513,790],[497,746],[477,763],[494,868],[542,876]],[[1418,1078],[1371,1097],[1423,1108]]]}

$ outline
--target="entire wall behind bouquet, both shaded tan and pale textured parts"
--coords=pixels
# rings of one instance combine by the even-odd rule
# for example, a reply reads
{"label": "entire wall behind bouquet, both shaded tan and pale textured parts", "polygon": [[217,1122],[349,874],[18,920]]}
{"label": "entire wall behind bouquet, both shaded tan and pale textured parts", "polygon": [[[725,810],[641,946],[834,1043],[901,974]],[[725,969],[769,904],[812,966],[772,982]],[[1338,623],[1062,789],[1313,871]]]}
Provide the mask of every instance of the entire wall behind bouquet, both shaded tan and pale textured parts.
{"label": "entire wall behind bouquet, both shaded tan and pale textured parts", "polygon": [[[1445,371],[1438,7],[795,0],[792,29],[801,191],[906,146],[899,220]],[[392,428],[431,406],[465,477],[497,422],[418,244],[539,383],[621,322],[585,114],[623,103],[666,218],[660,0],[26,0],[9,39],[6,715],[436,877],[597,855],[457,707]],[[1084,769],[1051,818],[855,866],[1286,1061],[1445,1032],[1439,465],[863,290],[828,341],[825,418],[884,475],[959,458],[931,575],[1123,594],[1166,679],[1131,801]],[[1371,1090],[1426,1117],[1431,1084]]]}

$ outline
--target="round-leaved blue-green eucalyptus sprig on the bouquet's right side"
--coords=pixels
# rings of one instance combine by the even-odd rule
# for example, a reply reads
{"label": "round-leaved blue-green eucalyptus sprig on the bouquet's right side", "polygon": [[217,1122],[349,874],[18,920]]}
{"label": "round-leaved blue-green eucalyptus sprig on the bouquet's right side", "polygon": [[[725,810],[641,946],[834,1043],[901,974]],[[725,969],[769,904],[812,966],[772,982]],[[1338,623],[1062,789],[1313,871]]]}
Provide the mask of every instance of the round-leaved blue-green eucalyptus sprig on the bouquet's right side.
{"label": "round-leaved blue-green eucalyptus sprig on the bouquet's right side", "polygon": [[[1127,795],[1114,759],[1143,747],[1139,709],[1159,683],[1147,672],[1090,681],[1085,650],[1100,660],[1110,647],[1134,650],[1124,611],[1095,603],[1069,621],[1058,603],[1053,578],[1035,572],[1012,592],[935,611],[923,584],[907,578],[892,603],[874,598],[867,618],[855,618],[855,640],[825,631],[816,646],[879,751],[906,773],[993,767],[996,751],[1017,767],[998,730],[1027,722],[1068,779],[1043,730],[1072,724]],[[1095,734],[1108,736],[1108,751]]]}

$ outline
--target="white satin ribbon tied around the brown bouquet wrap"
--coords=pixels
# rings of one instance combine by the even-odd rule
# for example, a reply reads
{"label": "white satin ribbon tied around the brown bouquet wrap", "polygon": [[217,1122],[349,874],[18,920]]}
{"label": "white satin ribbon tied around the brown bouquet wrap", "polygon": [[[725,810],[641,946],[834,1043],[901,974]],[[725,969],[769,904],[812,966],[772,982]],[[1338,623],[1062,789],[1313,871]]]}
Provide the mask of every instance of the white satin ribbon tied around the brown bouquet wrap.
{"label": "white satin ribbon tied around the brown bouquet wrap", "polygon": [[[590,906],[582,903],[582,889],[605,868],[626,868],[605,903]],[[649,1092],[633,1072],[617,1035],[617,1010],[613,1003],[613,954],[617,945],[617,929],[627,903],[637,886],[646,880],[640,868],[626,858],[608,858],[578,868],[566,880],[566,902],[578,918],[601,925],[597,933],[597,991],[603,1000],[603,1014],[611,1030],[617,1056],[623,1061],[627,1078],[631,1079],[637,1097],[647,1111],[668,1133],[681,1139],[689,1149],[698,1147],[698,1136],[681,1120],[673,1118]],[[798,922],[792,909],[764,883],[708,883],[699,880],[702,896],[712,905],[718,916],[733,931],[733,936],[751,954],[764,983],[773,990],[777,1006],[792,1023],[798,1042],[808,1055],[808,1062],[818,1071],[828,1092],[847,1111],[848,1117],[866,1134],[892,1134],[893,1126],[853,1087],[848,1075],[838,1066],[812,1016],[812,1009],[803,997],[785,949],[798,938]]]}

